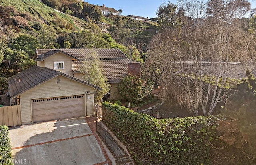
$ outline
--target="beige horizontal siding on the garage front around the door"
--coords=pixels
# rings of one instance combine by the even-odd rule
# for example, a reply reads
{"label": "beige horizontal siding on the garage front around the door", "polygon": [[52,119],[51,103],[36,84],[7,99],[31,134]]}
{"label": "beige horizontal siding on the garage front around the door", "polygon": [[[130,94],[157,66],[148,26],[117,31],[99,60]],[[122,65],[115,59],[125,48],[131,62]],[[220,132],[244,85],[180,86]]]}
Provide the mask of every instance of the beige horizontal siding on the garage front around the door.
{"label": "beige horizontal siding on the garage front around the door", "polygon": [[[93,93],[94,88],[85,84],[76,82],[64,76],[60,77],[60,84],[57,84],[57,78],[54,77],[20,95],[21,119],[22,124],[32,123],[31,100],[38,98],[51,98],[60,96],[72,96],[86,94],[86,91]],[[93,114],[93,94],[92,99],[87,100],[87,115]]]}

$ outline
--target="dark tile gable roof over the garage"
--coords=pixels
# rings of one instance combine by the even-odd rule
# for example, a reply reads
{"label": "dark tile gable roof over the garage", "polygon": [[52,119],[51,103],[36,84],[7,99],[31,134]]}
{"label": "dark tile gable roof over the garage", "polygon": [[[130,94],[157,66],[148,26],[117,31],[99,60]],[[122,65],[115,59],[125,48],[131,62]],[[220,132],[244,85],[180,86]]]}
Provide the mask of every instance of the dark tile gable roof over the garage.
{"label": "dark tile gable roof over the garage", "polygon": [[102,88],[90,84],[86,81],[82,81],[60,71],[56,71],[49,68],[43,68],[38,66],[30,67],[10,78],[8,78],[8,87],[10,92],[10,97],[14,98],[19,94],[26,92],[27,90],[52,79],[58,75],[63,75],[80,83],[86,84],[88,86],[92,86],[93,88],[102,90]]}

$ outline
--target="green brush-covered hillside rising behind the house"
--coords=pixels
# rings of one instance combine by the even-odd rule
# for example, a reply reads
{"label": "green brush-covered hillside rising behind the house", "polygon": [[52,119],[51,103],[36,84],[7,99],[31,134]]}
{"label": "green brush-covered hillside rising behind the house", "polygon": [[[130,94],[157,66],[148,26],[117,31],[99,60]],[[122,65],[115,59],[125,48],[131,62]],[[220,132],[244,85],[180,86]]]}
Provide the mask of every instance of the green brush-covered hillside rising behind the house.
{"label": "green brush-covered hillside rising behind the house", "polygon": [[0,0],[1,93],[8,90],[6,78],[35,65],[36,48],[118,48],[143,61],[156,24],[122,17],[118,31],[140,41],[127,44],[110,31],[119,17],[103,17],[94,5],[76,0]]}

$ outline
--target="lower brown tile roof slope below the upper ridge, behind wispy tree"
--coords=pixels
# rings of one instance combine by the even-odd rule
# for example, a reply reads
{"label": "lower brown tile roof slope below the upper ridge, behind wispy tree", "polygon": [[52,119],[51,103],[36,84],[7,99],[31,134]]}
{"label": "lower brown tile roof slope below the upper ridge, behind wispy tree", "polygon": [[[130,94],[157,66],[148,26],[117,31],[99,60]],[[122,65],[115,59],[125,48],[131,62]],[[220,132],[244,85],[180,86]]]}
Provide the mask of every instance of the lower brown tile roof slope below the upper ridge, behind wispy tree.
{"label": "lower brown tile roof slope below the upper ridge, behind wispy tree", "polygon": [[[127,64],[128,59],[111,59],[102,60],[103,70],[109,83],[120,83],[121,79],[128,75]],[[83,65],[82,61],[72,61],[73,71],[80,73],[80,68]]]}

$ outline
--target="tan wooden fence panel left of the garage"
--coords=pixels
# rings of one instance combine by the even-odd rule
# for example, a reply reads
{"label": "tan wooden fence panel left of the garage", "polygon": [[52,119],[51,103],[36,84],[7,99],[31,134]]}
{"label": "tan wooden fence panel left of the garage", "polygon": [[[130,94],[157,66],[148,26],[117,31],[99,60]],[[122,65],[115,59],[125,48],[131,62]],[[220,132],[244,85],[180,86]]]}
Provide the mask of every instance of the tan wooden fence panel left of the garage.
{"label": "tan wooden fence panel left of the garage", "polygon": [[0,107],[0,124],[6,126],[20,126],[20,105]]}

